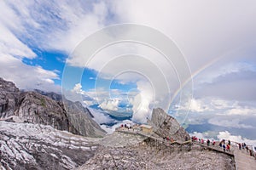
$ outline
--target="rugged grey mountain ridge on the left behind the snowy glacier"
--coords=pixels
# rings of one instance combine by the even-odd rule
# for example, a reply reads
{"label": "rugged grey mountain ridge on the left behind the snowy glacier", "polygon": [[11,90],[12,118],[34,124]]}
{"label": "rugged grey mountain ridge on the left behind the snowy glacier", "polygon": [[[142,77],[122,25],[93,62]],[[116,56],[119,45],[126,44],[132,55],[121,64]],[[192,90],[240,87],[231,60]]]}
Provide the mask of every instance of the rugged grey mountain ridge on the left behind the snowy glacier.
{"label": "rugged grey mountain ridge on the left behind the snowy glacier", "polygon": [[60,94],[20,92],[13,82],[0,78],[0,96],[2,120],[49,125],[88,137],[102,137],[106,134],[92,119],[87,108],[79,102],[62,99]]}

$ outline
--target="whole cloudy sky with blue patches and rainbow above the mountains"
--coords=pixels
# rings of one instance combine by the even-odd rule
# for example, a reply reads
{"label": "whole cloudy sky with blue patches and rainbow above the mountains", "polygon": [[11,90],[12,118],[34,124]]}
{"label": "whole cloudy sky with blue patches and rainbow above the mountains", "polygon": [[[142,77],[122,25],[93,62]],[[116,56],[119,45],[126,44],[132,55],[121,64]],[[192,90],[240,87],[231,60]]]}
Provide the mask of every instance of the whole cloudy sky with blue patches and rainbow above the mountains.
{"label": "whole cloudy sky with blue patches and rainbow above the mountains", "polygon": [[85,105],[125,108],[136,122],[162,107],[196,133],[255,142],[255,1],[10,0],[0,8],[0,77],[18,88],[79,94]]}

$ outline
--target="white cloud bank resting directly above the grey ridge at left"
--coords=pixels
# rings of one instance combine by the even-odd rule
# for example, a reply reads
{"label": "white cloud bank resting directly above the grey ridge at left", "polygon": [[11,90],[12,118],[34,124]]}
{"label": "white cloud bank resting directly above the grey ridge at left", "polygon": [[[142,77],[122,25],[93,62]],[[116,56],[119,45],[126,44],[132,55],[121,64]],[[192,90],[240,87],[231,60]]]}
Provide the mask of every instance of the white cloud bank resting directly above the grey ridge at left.
{"label": "white cloud bank resting directly above the grey ridge at left", "polygon": [[59,79],[55,71],[47,71],[40,66],[25,65],[20,59],[7,54],[2,54],[0,57],[0,77],[15,82],[21,89],[61,92],[61,87],[56,86],[53,81]]}

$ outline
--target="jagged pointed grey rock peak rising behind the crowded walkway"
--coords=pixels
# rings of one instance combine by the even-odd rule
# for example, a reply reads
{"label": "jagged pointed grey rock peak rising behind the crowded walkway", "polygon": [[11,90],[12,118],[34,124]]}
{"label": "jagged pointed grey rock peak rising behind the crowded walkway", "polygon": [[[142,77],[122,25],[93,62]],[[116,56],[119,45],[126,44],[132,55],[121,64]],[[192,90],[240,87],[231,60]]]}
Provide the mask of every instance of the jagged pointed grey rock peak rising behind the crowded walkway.
{"label": "jagged pointed grey rock peak rising behind the crowded walkway", "polygon": [[160,108],[153,110],[151,121],[148,123],[154,127],[154,133],[162,138],[169,137],[178,141],[190,138],[189,133],[179,125],[177,120]]}

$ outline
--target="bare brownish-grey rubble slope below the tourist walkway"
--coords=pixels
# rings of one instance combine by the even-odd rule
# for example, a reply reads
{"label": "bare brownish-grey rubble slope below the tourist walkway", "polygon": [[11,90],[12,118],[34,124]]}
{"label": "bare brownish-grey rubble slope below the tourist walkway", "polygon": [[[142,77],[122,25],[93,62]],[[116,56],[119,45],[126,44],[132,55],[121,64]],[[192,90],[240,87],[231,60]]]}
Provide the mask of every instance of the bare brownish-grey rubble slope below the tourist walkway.
{"label": "bare brownish-grey rubble slope below the tourist walkway", "polygon": [[[118,138],[119,143],[126,142],[120,133],[113,133],[105,140],[105,144]],[[127,134],[125,134],[127,135]],[[173,144],[170,148],[153,146],[150,142],[137,143],[137,137],[128,135],[133,146],[108,145],[101,146],[95,156],[79,167],[83,169],[235,169],[230,156],[211,150],[202,150],[197,145],[185,145],[181,148]],[[128,137],[126,136],[126,137]]]}

